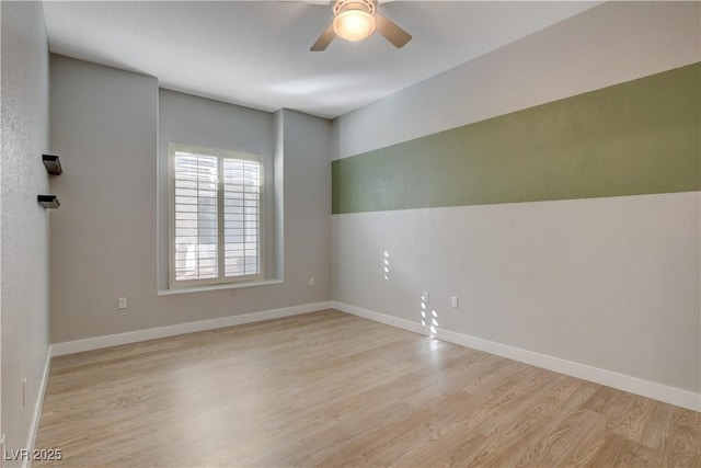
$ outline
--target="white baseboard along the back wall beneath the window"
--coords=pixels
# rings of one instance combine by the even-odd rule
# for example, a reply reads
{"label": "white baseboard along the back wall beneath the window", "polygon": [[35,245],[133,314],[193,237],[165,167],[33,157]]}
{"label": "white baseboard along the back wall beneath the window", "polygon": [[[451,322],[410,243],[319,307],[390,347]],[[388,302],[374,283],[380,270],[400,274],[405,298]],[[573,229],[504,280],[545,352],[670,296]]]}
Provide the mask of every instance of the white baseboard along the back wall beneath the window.
{"label": "white baseboard along the back wall beneath the window", "polygon": [[220,319],[202,320],[197,322],[179,323],[175,326],[137,330],[126,333],[108,334],[105,336],[88,338],[85,340],[76,340],[65,343],[51,344],[50,353],[51,356],[61,356],[65,354],[73,354],[83,351],[99,350],[102,347],[118,346],[120,344],[137,343],[140,341],[156,340],[159,338],[175,336],[179,334],[215,330],[225,327],[260,322],[263,320],[279,319],[283,317],[298,316],[301,313],[309,313],[330,308],[331,303],[329,301],[304,304],[301,306],[285,307],[281,309],[243,313],[241,316],[222,317]]}

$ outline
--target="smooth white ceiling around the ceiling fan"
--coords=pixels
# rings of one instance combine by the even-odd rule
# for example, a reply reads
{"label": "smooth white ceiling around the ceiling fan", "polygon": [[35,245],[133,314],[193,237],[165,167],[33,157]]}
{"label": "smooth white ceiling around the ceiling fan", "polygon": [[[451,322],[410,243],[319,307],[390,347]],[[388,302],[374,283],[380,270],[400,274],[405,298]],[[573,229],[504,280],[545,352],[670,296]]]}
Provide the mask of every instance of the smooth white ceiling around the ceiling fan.
{"label": "smooth white ceiling around the ceiling fan", "polygon": [[[322,2],[325,3],[325,2]],[[264,111],[336,117],[595,7],[594,1],[393,1],[414,37],[309,47],[319,1],[47,1],[49,48],[158,77],[160,85]]]}

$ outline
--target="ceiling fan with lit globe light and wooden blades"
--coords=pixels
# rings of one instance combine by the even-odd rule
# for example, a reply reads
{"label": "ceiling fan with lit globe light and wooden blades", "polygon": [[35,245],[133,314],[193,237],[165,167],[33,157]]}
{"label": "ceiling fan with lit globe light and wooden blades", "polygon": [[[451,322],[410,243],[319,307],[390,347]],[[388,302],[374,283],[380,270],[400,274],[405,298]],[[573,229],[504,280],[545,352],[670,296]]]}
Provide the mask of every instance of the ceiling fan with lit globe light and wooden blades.
{"label": "ceiling fan with lit globe light and wooden blades", "polygon": [[311,52],[325,50],[336,36],[356,42],[369,37],[375,31],[397,48],[412,39],[411,34],[377,12],[377,0],[334,0],[331,8],[333,22],[311,46]]}

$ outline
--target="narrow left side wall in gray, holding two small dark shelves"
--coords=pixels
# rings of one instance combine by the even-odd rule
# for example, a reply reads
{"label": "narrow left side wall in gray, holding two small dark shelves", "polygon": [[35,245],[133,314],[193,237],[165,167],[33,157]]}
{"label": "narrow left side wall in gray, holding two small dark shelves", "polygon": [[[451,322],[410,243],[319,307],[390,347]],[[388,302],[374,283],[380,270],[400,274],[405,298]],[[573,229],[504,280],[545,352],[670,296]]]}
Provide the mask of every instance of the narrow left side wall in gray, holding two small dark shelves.
{"label": "narrow left side wall in gray, holding two small dark shelves", "polygon": [[[5,449],[27,448],[48,352],[48,47],[41,2],[2,2],[0,323]],[[27,380],[26,406],[22,379]],[[19,465],[5,463],[5,466]]]}

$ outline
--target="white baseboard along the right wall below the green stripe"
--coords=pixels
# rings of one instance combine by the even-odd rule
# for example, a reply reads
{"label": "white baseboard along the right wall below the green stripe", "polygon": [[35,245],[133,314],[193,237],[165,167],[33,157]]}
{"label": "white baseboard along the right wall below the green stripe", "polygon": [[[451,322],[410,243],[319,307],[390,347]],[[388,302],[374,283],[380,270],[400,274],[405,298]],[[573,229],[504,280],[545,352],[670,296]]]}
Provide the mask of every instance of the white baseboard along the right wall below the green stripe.
{"label": "white baseboard along the right wall below the green stripe", "polygon": [[[372,310],[363,309],[347,304],[331,301],[334,309],[346,313],[363,317],[391,327],[401,328],[424,335],[430,335],[430,331],[421,323],[405,319],[388,316]],[[644,380],[612,370],[598,367],[591,367],[586,364],[579,364],[572,361],[561,359],[559,357],[540,354],[520,347],[514,347],[489,340],[482,340],[462,333],[456,333],[448,330],[437,330],[434,335],[438,340],[459,344],[461,346],[473,350],[484,351],[497,356],[507,357],[532,366],[553,370],[560,374],[581,378],[583,380],[593,381],[595,384],[605,385],[607,387],[617,388],[619,390],[640,395],[641,397],[652,398],[654,400],[664,401],[677,407],[687,408],[701,412],[701,393],[683,390],[676,387],[658,384],[655,381]]]}

